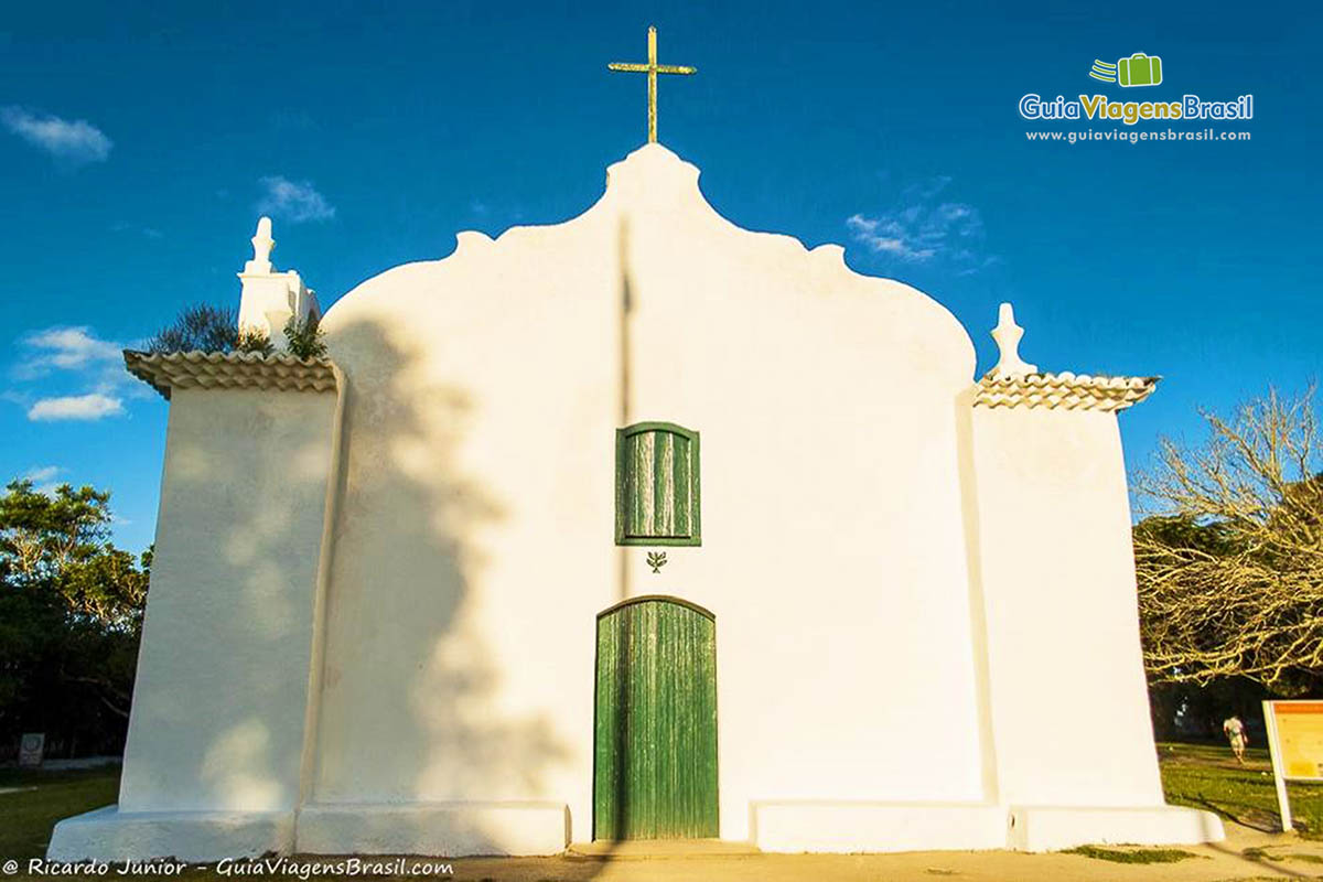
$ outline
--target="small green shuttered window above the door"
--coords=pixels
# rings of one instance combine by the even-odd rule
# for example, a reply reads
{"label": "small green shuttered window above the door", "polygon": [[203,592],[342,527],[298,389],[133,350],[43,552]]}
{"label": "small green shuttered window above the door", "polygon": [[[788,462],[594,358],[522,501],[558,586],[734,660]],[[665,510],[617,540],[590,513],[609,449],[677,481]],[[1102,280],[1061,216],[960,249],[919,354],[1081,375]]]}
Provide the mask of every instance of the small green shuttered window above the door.
{"label": "small green shuttered window above the door", "polygon": [[699,432],[675,423],[615,430],[615,543],[703,545]]}

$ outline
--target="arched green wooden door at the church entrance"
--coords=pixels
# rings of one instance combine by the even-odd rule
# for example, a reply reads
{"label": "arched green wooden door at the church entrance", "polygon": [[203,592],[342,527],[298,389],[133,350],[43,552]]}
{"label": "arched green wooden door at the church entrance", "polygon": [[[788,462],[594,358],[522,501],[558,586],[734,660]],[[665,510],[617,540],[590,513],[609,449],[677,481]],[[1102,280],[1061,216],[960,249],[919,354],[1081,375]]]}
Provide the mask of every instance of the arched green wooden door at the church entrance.
{"label": "arched green wooden door at the church entrance", "polygon": [[593,838],[718,836],[710,612],[646,596],[598,615],[595,741]]}

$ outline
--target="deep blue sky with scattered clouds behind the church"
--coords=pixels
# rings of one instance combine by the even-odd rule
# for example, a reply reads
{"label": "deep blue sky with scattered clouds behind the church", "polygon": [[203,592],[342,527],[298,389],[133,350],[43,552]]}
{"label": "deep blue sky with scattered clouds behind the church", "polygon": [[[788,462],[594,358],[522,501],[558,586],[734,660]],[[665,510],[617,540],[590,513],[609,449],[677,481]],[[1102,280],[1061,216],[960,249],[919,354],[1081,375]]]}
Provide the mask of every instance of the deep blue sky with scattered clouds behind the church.
{"label": "deep blue sky with scattered clouds behind the church", "polygon": [[[255,218],[323,304],[455,233],[557,222],[640,144],[648,24],[662,141],[741,226],[840,242],[971,331],[1012,300],[1045,370],[1162,374],[1159,435],[1318,374],[1312,4],[20,4],[0,20],[0,475],[114,492],[151,542],[167,403],[118,350],[238,303]],[[1093,61],[1160,56],[1121,89]],[[1254,95],[1248,143],[1029,143],[1021,95]],[[1204,123],[1175,123],[1195,131]],[[1143,128],[1143,127],[1140,127]],[[1152,127],[1148,127],[1152,128]],[[1314,161],[1308,161],[1312,157]]]}

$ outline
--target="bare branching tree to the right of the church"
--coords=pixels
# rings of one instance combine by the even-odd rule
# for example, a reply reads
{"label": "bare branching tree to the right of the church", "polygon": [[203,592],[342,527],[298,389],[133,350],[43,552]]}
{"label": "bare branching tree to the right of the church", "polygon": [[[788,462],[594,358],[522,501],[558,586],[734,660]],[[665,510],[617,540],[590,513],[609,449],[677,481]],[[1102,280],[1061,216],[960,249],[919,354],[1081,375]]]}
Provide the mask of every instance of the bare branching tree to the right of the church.
{"label": "bare branching tree to the right of the church", "polygon": [[1244,676],[1278,694],[1323,681],[1323,463],[1314,389],[1163,439],[1136,492],[1144,661],[1155,681]]}

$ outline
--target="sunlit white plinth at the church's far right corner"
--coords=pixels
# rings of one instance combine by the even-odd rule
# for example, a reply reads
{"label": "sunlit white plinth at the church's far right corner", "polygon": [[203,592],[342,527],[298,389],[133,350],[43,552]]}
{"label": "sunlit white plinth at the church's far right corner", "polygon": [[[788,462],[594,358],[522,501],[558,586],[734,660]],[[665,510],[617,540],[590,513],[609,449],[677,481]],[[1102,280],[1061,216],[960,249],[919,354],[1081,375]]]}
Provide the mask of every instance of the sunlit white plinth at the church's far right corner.
{"label": "sunlit white plinth at the church's far right corner", "polygon": [[1199,845],[1226,838],[1212,812],[1174,805],[1142,808],[1011,808],[1007,845],[1019,852],[1056,852],[1077,845]]}

